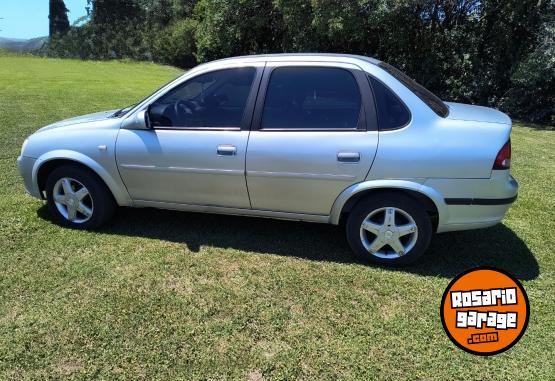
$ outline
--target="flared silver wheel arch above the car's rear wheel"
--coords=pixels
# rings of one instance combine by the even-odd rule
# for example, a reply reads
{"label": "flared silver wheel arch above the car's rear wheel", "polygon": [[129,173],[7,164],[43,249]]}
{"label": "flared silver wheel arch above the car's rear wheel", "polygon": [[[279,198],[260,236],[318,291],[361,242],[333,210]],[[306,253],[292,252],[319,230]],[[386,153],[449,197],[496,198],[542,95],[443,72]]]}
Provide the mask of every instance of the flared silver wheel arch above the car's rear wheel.
{"label": "flared silver wheel arch above the car's rear wheel", "polygon": [[421,203],[432,217],[434,230],[437,230],[442,221],[447,220],[445,202],[435,189],[408,180],[370,180],[354,184],[341,192],[332,206],[330,223],[339,224],[341,218],[348,214],[359,200],[390,192],[406,194]]}

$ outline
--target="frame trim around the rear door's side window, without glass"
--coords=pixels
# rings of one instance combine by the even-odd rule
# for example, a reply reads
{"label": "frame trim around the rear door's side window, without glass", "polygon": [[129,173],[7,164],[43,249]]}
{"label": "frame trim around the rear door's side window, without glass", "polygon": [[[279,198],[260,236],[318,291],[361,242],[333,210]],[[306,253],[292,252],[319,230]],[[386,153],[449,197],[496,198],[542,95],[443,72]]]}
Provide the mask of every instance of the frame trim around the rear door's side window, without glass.
{"label": "frame trim around the rear door's side window, without glass", "polygon": [[[326,62],[327,64],[327,62]],[[336,68],[348,71],[354,78],[358,86],[358,90],[361,97],[361,108],[360,115],[357,124],[357,128],[261,128],[262,124],[262,114],[264,111],[264,103],[266,101],[266,95],[268,91],[268,85],[272,72],[278,68],[290,68],[290,67],[302,67],[302,68]],[[367,73],[362,69],[354,70],[351,68],[346,68],[342,66],[333,65],[318,65],[318,63],[307,63],[304,64],[283,64],[276,66],[269,66],[268,63],[264,69],[262,75],[262,80],[260,82],[260,88],[258,90],[258,97],[256,99],[256,104],[254,108],[254,114],[251,122],[251,130],[253,131],[282,131],[282,132],[299,132],[299,131],[328,131],[328,132],[364,132],[364,131],[377,131],[377,114],[376,107],[374,105],[373,93],[370,89]]]}

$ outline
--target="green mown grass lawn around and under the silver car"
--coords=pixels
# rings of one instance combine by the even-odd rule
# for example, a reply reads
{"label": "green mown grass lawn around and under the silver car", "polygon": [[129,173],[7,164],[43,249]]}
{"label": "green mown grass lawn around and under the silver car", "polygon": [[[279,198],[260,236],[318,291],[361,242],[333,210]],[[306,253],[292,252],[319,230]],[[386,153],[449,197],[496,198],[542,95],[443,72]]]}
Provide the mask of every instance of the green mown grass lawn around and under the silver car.
{"label": "green mown grass lawn around and under the silver car", "polygon": [[[61,228],[24,192],[27,135],[123,107],[179,71],[0,55],[0,379],[555,379],[555,131],[517,124],[519,199],[503,224],[436,237],[417,266],[349,257],[333,226],[122,209]],[[444,334],[449,280],[522,280],[527,333],[491,358]]]}

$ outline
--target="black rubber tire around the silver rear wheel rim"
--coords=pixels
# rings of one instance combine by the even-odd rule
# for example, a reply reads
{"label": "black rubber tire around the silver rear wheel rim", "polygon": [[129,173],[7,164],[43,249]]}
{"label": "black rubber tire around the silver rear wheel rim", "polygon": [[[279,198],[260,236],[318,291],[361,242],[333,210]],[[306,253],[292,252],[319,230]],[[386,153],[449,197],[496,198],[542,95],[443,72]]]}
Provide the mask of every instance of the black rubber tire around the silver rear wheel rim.
{"label": "black rubber tire around the silver rear wheel rim", "polygon": [[[402,238],[403,240],[406,239],[410,241],[414,237],[415,241],[412,241],[412,248],[399,257],[382,258],[372,254],[365,248],[363,238],[361,237],[362,234],[368,234],[370,237],[369,240],[377,237],[377,235],[372,233],[361,233],[361,225],[370,213],[387,207],[397,208],[400,209],[401,212],[405,212],[408,216],[412,217],[417,227],[416,234]],[[379,213],[380,212],[378,212],[376,216],[379,217]],[[405,218],[400,212],[397,214],[400,215],[400,217],[398,217],[399,219]],[[432,223],[428,213],[422,205],[410,196],[402,193],[379,193],[375,196],[362,199],[354,206],[347,219],[346,233],[347,241],[357,258],[365,262],[371,262],[382,266],[398,267],[414,263],[426,252],[432,238]],[[391,249],[387,244],[384,247],[384,251]],[[391,252],[393,252],[392,249]],[[385,254],[389,255],[388,253]]]}

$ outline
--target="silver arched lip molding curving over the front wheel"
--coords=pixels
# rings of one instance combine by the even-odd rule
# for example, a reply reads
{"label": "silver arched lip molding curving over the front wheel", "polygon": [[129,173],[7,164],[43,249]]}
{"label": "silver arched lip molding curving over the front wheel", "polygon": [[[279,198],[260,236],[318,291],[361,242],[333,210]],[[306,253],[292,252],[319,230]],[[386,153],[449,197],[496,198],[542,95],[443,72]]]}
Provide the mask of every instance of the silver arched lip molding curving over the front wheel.
{"label": "silver arched lip molding curving over the front wheel", "polygon": [[90,168],[93,172],[95,172],[100,178],[106,183],[116,202],[120,206],[131,206],[133,204],[129,193],[127,193],[127,189],[125,185],[121,181],[119,173],[117,173],[117,169],[115,169],[116,173],[109,173],[102,165],[98,162],[93,160],[87,155],[82,153],[72,151],[72,150],[54,150],[46,152],[45,154],[41,155],[35,162],[33,166],[33,186],[38,190],[38,172],[40,167],[52,160],[71,160],[76,163],[82,164],[88,168]]}

